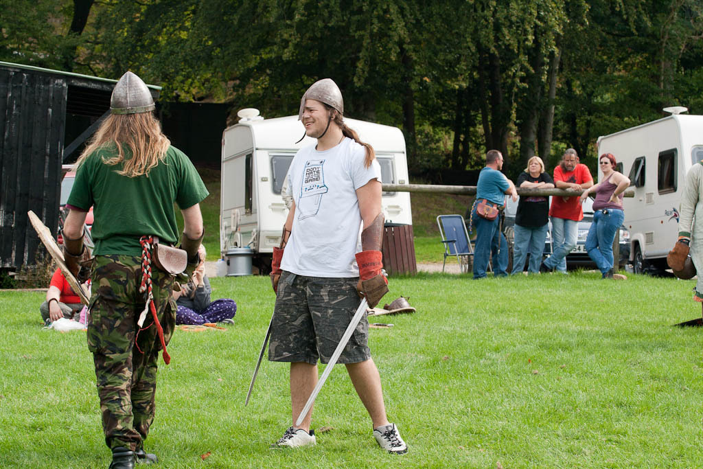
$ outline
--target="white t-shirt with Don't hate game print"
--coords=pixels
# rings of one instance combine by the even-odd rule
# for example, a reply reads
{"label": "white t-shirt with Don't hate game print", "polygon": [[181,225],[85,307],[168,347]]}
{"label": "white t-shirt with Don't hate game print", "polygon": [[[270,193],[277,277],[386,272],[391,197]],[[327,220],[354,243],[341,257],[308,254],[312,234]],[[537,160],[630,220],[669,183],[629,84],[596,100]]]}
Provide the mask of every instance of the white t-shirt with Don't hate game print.
{"label": "white t-shirt with Don't hate game print", "polygon": [[301,148],[288,169],[293,225],[280,268],[311,277],[356,277],[361,212],[356,189],[381,181],[378,161],[363,165],[366,148],[344,137],[325,151]]}

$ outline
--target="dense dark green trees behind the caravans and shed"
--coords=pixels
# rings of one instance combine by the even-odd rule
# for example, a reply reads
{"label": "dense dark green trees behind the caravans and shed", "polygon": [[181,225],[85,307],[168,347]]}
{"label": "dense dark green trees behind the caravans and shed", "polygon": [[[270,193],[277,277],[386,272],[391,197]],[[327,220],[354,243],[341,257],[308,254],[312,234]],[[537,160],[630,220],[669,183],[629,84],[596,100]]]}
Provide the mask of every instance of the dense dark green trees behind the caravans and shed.
{"label": "dense dark green trees behind the caravans and shed", "polygon": [[[165,99],[295,113],[333,77],[346,115],[404,129],[411,170],[531,155],[703,113],[700,0],[0,0],[0,59],[119,77]],[[32,6],[33,8],[30,8]],[[591,158],[595,161],[595,158]],[[429,173],[428,173],[429,172]]]}

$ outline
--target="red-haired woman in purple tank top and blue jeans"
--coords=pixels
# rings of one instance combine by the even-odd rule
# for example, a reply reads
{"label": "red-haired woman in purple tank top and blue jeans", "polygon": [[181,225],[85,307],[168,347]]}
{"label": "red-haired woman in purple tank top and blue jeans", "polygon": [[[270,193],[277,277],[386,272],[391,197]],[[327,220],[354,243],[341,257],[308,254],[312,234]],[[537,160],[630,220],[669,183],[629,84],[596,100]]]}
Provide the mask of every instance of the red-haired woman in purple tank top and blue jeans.
{"label": "red-haired woman in purple tank top and blue jeans", "polygon": [[630,186],[630,179],[615,171],[615,157],[604,153],[598,159],[602,179],[581,194],[581,203],[588,193],[595,192],[593,223],[586,238],[586,251],[598,266],[602,278],[613,278],[613,240],[620,229],[625,213],[622,210],[622,193]]}

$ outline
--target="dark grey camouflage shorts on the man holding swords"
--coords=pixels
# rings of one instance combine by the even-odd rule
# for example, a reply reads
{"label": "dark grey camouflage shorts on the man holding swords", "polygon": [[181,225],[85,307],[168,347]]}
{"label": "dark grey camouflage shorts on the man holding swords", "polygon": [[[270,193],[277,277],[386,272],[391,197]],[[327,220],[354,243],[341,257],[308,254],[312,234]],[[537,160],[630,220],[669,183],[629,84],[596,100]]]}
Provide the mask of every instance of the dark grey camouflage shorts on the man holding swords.
{"label": "dark grey camouflage shorts on the man holding swords", "polygon": [[[328,363],[349,321],[359,308],[359,277],[307,277],[284,271],[278,282],[271,323],[269,360]],[[363,315],[338,363],[371,358],[368,319]]]}

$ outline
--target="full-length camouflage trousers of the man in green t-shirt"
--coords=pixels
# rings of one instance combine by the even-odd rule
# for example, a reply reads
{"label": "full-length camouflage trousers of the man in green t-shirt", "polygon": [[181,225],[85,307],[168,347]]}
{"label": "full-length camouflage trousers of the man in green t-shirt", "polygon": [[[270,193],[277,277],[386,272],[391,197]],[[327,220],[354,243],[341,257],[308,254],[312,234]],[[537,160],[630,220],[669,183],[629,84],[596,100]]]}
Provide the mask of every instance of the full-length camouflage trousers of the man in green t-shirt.
{"label": "full-length camouflage trousers of the man in green t-shirt", "polygon": [[[137,325],[146,306],[145,294],[139,293],[141,279],[140,257],[96,257],[88,348],[95,362],[105,443],[111,449],[140,448],[154,420],[157,359],[162,347],[150,311],[143,328]],[[167,344],[176,324],[173,282],[172,276],[152,268],[154,302]]]}

